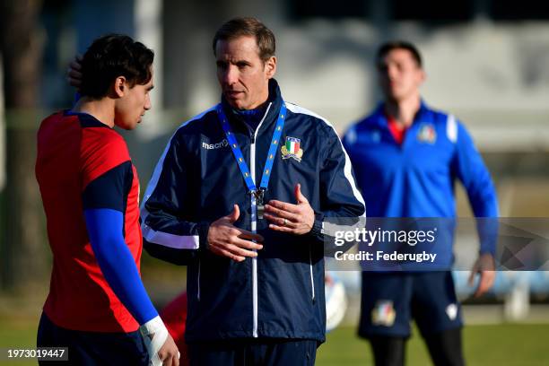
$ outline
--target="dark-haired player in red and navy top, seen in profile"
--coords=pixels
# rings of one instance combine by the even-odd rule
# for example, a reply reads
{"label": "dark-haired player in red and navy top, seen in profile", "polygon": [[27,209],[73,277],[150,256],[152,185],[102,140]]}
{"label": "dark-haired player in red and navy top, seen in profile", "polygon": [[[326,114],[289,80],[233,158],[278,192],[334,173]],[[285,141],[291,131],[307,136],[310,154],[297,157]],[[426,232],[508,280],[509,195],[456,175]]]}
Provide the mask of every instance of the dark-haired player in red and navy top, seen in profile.
{"label": "dark-haired player in red and navy top, seen in profile", "polygon": [[36,177],[54,260],[38,346],[68,347],[71,364],[179,364],[141,282],[139,181],[113,129],[135,128],[151,109],[153,58],[130,37],[96,39],[82,59],[82,98],[39,127]]}

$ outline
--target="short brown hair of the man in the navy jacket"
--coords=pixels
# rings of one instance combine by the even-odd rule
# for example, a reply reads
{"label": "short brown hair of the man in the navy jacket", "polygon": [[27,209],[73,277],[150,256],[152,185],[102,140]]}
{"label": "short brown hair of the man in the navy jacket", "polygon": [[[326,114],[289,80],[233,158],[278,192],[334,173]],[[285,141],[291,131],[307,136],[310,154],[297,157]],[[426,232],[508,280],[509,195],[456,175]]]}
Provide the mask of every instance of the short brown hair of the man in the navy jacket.
{"label": "short brown hair of the man in the navy jacket", "polygon": [[257,48],[259,48],[259,58],[263,62],[274,56],[276,42],[273,31],[269,30],[264,23],[251,17],[234,18],[229,22],[223,23],[219,30],[215,32],[215,36],[213,36],[213,55],[215,55],[215,46],[218,40],[230,40],[242,36],[256,38]]}

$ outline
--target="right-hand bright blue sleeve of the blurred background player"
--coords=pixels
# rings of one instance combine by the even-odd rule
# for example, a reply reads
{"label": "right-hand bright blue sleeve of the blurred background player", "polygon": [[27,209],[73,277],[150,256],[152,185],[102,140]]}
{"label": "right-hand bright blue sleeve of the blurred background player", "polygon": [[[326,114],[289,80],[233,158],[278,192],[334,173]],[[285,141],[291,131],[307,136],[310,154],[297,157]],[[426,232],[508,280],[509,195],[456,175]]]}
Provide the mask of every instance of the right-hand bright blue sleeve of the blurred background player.
{"label": "right-hand bright blue sleeve of the blurred background player", "polygon": [[457,123],[457,146],[454,169],[466,188],[477,218],[480,252],[495,254],[498,233],[498,200],[490,172],[466,128]]}

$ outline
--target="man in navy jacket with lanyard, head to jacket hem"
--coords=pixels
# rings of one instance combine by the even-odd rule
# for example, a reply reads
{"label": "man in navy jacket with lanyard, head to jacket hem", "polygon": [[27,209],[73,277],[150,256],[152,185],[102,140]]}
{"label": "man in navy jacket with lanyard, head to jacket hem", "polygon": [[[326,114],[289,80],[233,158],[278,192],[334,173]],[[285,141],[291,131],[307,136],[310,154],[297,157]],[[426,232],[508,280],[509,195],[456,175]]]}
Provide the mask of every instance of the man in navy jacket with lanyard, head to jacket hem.
{"label": "man in navy jacket with lanyard, head to jacket hem", "polygon": [[[218,30],[213,47],[222,114],[257,186],[276,144],[264,218],[257,218],[259,204],[213,107],[179,127],[154,170],[142,206],[144,246],[154,257],[188,266],[187,342],[323,342],[322,221],[362,216],[363,200],[334,127],[283,101],[272,78],[275,58],[263,56],[265,46],[244,32],[249,28],[268,30],[254,19],[236,19]],[[254,68],[264,73],[259,81],[248,73]],[[283,103],[282,135],[273,142]],[[219,244],[213,231],[223,228],[238,230],[238,239]]]}

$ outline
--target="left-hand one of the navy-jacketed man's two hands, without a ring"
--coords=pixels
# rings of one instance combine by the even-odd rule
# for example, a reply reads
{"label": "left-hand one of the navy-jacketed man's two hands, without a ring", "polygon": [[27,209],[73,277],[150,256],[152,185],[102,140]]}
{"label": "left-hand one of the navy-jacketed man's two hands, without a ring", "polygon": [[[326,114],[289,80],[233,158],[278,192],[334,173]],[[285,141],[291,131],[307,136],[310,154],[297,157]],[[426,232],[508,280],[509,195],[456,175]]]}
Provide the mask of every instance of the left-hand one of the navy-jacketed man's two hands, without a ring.
{"label": "left-hand one of the navy-jacketed man's two hands, without a ring", "polygon": [[257,242],[263,241],[263,237],[237,228],[233,225],[239,219],[239,205],[234,205],[232,212],[223,216],[210,225],[208,230],[208,248],[213,254],[222,257],[229,257],[232,260],[241,262],[246,257],[257,257],[257,252],[263,245]]}

